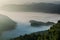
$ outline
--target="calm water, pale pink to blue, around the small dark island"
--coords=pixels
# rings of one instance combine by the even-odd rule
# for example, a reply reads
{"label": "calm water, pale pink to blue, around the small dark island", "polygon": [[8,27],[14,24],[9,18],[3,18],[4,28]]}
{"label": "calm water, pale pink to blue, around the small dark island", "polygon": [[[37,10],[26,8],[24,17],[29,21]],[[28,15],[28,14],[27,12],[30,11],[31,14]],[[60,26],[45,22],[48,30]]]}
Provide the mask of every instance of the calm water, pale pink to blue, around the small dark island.
{"label": "calm water, pale pink to blue, around the small dark island", "polygon": [[50,26],[31,27],[29,23],[30,20],[57,22],[60,19],[59,14],[51,13],[0,11],[0,14],[6,15],[17,22],[15,30],[6,31],[3,33],[3,38],[5,39],[18,37],[20,35],[30,34],[37,31],[44,31],[50,28]]}

